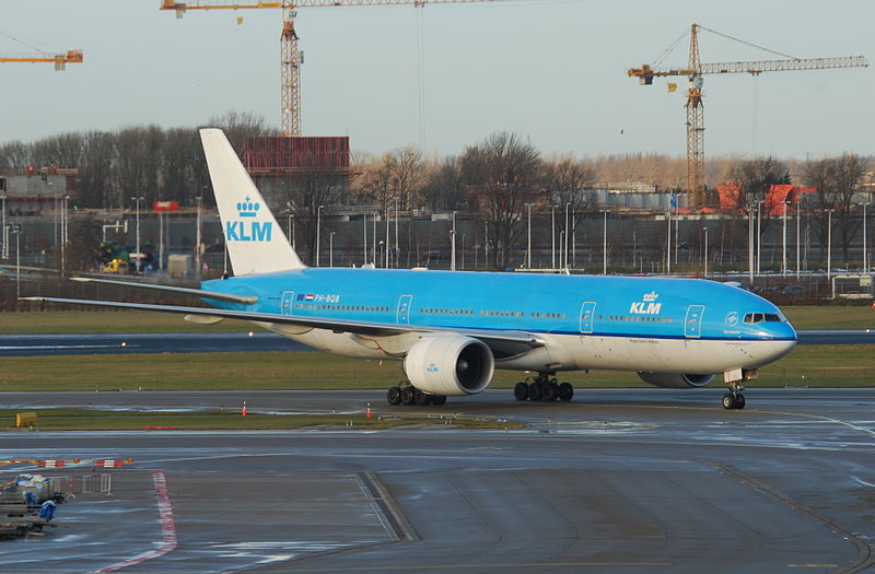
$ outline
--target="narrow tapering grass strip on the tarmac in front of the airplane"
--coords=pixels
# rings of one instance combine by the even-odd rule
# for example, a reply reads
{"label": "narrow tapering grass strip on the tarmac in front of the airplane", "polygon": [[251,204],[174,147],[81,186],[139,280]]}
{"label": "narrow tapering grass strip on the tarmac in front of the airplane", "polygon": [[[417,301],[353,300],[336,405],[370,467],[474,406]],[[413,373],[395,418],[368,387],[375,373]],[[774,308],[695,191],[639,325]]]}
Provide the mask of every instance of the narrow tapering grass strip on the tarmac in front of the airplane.
{"label": "narrow tapering grass strip on the tarmac in front of the airplane", "polygon": [[[357,415],[282,415],[249,413],[242,417],[240,412],[209,411],[195,413],[177,413],[161,411],[105,411],[78,409],[42,409],[33,411],[37,414],[36,429],[39,431],[140,431],[140,430],[249,430],[272,431],[304,429],[312,426],[342,426],[361,430],[392,429],[423,424],[453,425],[465,429],[520,429],[522,423],[497,419],[468,419],[456,417],[382,417],[368,419]],[[15,412],[0,410],[0,421],[8,431],[15,424]],[[24,429],[18,429],[25,432]]]}

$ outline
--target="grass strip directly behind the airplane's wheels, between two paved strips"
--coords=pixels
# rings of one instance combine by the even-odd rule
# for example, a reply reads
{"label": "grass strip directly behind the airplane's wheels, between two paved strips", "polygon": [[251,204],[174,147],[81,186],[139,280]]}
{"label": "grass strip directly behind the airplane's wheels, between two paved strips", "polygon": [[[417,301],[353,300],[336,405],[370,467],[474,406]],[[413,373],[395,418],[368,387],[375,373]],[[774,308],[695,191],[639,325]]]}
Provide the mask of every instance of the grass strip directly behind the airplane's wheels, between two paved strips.
{"label": "grass strip directly behind the airplane's wheels, between two paved strips", "polygon": [[[801,345],[761,368],[752,385],[873,386],[872,352],[871,345]],[[492,387],[511,388],[524,377],[499,371]],[[581,388],[649,387],[627,372],[560,378]],[[0,371],[0,388],[7,391],[385,389],[402,379],[397,361],[381,364],[318,352],[10,356]]]}

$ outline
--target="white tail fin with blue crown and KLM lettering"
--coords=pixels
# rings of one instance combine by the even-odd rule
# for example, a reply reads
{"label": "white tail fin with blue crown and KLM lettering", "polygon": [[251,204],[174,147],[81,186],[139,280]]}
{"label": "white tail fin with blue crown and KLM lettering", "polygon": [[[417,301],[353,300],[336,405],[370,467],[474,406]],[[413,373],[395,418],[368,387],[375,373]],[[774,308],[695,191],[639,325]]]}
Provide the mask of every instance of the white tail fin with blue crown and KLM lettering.
{"label": "white tail fin with blue crown and KLM lettering", "polygon": [[306,267],[220,129],[200,130],[234,274]]}

